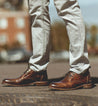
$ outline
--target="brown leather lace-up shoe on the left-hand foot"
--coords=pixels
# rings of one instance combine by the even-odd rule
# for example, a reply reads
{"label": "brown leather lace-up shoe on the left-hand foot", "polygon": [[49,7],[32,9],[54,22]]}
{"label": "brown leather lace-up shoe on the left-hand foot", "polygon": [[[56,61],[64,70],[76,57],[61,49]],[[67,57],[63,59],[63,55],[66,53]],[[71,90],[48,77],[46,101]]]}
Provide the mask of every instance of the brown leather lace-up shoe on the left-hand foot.
{"label": "brown leather lace-up shoe on the left-hand foot", "polygon": [[2,84],[7,84],[11,86],[28,86],[28,85],[48,85],[47,72],[40,71],[34,72],[28,69],[22,76],[16,79],[4,79]]}

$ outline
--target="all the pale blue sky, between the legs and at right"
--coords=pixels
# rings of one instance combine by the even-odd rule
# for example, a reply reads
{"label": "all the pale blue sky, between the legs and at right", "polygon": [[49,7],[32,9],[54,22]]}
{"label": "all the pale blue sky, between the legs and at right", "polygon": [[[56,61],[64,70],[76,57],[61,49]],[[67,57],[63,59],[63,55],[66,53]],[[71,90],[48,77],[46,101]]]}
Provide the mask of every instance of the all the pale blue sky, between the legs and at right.
{"label": "all the pale blue sky, between the legs and at right", "polygon": [[[78,0],[83,19],[87,24],[97,24],[98,25],[98,0]],[[50,16],[51,22],[59,19],[56,13],[56,9],[53,6],[53,0],[50,0]]]}

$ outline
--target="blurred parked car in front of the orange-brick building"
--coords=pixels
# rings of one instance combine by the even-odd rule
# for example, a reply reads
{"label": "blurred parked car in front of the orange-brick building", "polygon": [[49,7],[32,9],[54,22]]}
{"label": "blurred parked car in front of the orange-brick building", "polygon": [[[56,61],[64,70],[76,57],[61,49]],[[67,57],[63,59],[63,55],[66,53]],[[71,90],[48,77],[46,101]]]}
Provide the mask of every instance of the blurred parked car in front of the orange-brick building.
{"label": "blurred parked car in front of the orange-brick building", "polygon": [[28,61],[32,52],[28,52],[24,48],[14,48],[11,50],[3,50],[0,52],[0,61],[2,62],[19,62]]}

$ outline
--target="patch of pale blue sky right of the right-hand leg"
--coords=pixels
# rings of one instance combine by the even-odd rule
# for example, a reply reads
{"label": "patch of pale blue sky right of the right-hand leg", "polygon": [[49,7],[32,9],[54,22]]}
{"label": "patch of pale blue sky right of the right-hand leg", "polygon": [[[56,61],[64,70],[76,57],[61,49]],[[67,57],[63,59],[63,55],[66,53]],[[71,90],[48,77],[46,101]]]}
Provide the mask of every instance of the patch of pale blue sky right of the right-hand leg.
{"label": "patch of pale blue sky right of the right-hand leg", "polygon": [[84,21],[98,26],[98,0],[78,0]]}

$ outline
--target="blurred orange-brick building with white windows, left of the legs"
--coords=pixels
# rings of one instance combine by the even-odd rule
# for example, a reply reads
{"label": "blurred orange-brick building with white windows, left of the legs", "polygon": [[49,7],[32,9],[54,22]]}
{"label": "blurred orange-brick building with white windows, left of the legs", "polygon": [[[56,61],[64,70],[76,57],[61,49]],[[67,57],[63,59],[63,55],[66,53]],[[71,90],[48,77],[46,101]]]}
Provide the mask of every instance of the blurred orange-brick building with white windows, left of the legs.
{"label": "blurred orange-brick building with white windows, left of the legs", "polygon": [[26,0],[0,1],[0,47],[31,50],[30,20]]}

